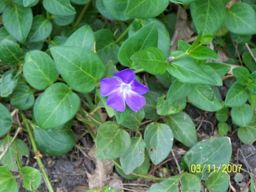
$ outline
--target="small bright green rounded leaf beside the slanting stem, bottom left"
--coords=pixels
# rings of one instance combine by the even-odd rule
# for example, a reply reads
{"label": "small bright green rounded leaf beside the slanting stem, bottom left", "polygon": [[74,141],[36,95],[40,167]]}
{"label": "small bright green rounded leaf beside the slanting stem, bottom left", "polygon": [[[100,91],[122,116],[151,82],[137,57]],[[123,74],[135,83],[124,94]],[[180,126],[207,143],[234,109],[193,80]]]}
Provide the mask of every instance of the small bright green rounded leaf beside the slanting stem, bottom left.
{"label": "small bright green rounded leaf beside the slanting stem, bottom left", "polygon": [[20,168],[22,184],[25,189],[36,190],[41,184],[41,173],[33,167],[23,166]]}

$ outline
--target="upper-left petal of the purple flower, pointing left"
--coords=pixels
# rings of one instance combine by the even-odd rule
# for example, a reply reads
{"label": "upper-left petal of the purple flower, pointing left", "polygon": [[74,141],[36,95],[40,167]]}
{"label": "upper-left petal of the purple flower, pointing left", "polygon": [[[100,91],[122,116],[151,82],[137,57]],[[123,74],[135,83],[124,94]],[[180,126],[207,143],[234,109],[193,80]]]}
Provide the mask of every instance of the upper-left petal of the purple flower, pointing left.
{"label": "upper-left petal of the purple flower, pointing left", "polygon": [[120,87],[122,81],[115,78],[104,78],[100,80],[100,94],[108,96],[110,93],[115,92]]}

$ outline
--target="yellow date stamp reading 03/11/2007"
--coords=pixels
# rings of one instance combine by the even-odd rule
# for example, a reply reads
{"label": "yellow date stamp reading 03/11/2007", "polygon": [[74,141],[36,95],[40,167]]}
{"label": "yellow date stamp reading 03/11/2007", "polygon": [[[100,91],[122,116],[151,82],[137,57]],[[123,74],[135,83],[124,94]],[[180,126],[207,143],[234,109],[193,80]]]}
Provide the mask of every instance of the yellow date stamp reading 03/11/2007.
{"label": "yellow date stamp reading 03/11/2007", "polygon": [[214,172],[214,173],[240,173],[242,164],[191,164],[191,173],[204,173],[204,172]]}

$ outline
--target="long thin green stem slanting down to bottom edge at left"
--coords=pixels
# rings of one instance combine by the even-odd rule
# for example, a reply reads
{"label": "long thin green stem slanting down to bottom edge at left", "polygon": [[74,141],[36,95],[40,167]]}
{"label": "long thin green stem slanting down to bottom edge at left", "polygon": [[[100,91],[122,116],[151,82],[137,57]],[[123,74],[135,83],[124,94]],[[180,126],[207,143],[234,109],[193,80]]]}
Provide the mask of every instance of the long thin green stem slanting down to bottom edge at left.
{"label": "long thin green stem slanting down to bottom edge at left", "polygon": [[[24,124],[25,124],[25,126],[26,126],[27,131],[28,131],[29,139],[30,139],[30,141],[31,141],[31,145],[32,145],[32,147],[33,147],[34,154],[35,154],[35,156],[36,156],[36,153],[39,153],[39,154],[40,154],[40,152],[38,151],[38,149],[37,149],[37,147],[36,147],[36,142],[35,142],[35,139],[34,139],[34,137],[33,137],[32,132],[31,132],[31,129],[30,129],[30,127],[29,127],[28,119],[26,118],[26,115],[25,115],[22,111],[20,111],[20,115],[21,115],[22,120],[23,120],[23,122],[24,122]],[[46,171],[45,171],[44,164],[42,163],[42,160],[41,160],[40,157],[38,157],[38,155],[36,156],[36,161],[37,161],[38,166],[39,166],[39,168],[40,168],[40,170],[41,170],[41,172],[42,172],[42,174],[43,174],[43,177],[44,177],[44,180],[45,180],[45,183],[46,183],[46,185],[47,185],[47,188],[48,188],[49,192],[54,192],[54,190],[53,190],[53,188],[52,188],[52,185],[51,185],[51,182],[50,182],[50,180],[49,180],[49,177],[48,177],[48,175],[47,175],[47,173],[46,173]]]}

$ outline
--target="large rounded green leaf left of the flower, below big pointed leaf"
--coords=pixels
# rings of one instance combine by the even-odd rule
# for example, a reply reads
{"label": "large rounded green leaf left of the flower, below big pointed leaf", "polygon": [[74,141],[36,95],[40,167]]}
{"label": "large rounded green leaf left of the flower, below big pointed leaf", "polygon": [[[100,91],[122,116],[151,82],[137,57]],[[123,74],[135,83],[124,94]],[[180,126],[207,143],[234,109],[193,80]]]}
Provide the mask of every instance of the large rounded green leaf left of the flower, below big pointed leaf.
{"label": "large rounded green leaf left of the flower, below big pointed leaf", "polygon": [[71,120],[80,107],[76,93],[64,83],[54,83],[42,93],[38,108],[34,109],[36,123],[42,129],[51,129]]}

